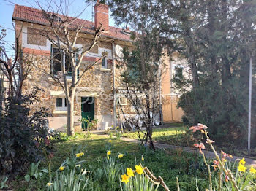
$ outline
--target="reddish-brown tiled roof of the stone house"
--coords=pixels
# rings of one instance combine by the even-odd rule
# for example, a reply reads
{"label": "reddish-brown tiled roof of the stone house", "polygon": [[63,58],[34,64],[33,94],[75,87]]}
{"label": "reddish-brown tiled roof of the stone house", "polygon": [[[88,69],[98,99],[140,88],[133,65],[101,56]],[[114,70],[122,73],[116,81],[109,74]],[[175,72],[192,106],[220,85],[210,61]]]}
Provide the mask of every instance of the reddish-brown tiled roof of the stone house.
{"label": "reddish-brown tiled roof of the stone house", "polygon": [[[61,15],[60,15],[61,17]],[[70,17],[72,19],[72,17]],[[48,20],[44,17],[42,10],[35,9],[32,7],[21,6],[15,4],[15,8],[12,15],[12,20],[21,20],[29,23],[37,23],[41,25],[48,25]],[[83,31],[89,34],[94,33],[94,23],[89,20],[76,19],[74,25],[80,25],[83,23]],[[113,26],[109,27],[109,32],[105,33],[105,36],[108,36],[113,39],[120,39],[124,41],[130,41],[130,36],[127,34],[124,29],[116,28]]]}

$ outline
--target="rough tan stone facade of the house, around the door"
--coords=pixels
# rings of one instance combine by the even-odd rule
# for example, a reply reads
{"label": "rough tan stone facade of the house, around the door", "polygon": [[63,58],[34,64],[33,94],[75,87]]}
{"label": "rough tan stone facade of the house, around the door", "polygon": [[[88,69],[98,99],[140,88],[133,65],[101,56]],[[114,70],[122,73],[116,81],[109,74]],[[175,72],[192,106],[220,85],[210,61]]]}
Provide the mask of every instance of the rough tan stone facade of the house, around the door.
{"label": "rough tan stone facade of the house, around the door", "polygon": [[[23,25],[21,28],[20,25]],[[67,111],[56,111],[56,98],[64,98],[64,95],[51,95],[53,92],[61,92],[62,88],[58,83],[54,82],[50,78],[50,49],[48,46],[48,40],[40,38],[38,36],[39,26],[29,23],[16,22],[17,28],[24,31],[22,42],[23,52],[27,59],[33,61],[33,66],[29,77],[23,84],[23,93],[29,94],[33,90],[33,87],[39,87],[42,91],[39,93],[40,101],[32,106],[32,110],[36,110],[39,107],[45,107],[49,109],[52,117],[49,117],[50,128],[56,130],[64,130],[67,124]],[[34,27],[31,28],[31,27]],[[37,31],[36,34],[31,31]],[[25,34],[25,35],[24,35]],[[37,40],[35,40],[37,39]],[[46,42],[45,42],[46,41]],[[90,39],[78,39],[78,44],[83,42],[88,43]],[[84,45],[84,44],[82,44]],[[40,47],[39,47],[40,46]],[[124,45],[122,45],[124,46]],[[86,66],[89,66],[100,58],[100,54],[103,50],[108,51],[108,69],[102,70],[101,62],[94,65],[89,71],[83,75],[80,80],[78,88],[80,87],[96,87],[102,90],[102,93],[94,97],[94,118],[100,122],[108,122],[108,125],[113,125],[113,59],[112,59],[112,44],[110,42],[99,42],[83,59],[79,71],[82,72]],[[120,75],[121,71],[116,69],[116,75]],[[116,77],[116,87],[121,85],[120,77]],[[81,96],[75,96],[75,122],[81,119]],[[126,109],[127,113],[129,109]]]}

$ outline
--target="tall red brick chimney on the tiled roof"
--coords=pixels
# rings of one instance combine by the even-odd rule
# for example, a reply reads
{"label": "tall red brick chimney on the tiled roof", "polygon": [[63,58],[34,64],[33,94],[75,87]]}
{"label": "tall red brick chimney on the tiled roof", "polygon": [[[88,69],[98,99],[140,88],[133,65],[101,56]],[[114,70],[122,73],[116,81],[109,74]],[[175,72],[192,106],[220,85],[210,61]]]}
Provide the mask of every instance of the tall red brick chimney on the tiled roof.
{"label": "tall red brick chimney on the tiled roof", "polygon": [[108,5],[102,4],[97,0],[97,3],[94,6],[94,27],[99,28],[102,25],[104,31],[109,29],[109,18],[108,18]]}

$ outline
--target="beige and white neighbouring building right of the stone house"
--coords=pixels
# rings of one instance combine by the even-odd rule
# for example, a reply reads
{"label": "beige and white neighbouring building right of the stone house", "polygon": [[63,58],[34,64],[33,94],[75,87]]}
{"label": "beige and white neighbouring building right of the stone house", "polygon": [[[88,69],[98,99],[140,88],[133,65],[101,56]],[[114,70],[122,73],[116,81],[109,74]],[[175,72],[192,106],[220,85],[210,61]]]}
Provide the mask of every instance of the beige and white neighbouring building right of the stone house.
{"label": "beige and white neighbouring building right of the stone house", "polygon": [[181,58],[177,52],[171,55],[171,59],[165,53],[163,57],[165,71],[162,74],[162,115],[163,122],[181,122],[184,115],[181,108],[177,108],[178,98],[181,93],[175,90],[173,77],[189,78],[189,67],[187,60]]}

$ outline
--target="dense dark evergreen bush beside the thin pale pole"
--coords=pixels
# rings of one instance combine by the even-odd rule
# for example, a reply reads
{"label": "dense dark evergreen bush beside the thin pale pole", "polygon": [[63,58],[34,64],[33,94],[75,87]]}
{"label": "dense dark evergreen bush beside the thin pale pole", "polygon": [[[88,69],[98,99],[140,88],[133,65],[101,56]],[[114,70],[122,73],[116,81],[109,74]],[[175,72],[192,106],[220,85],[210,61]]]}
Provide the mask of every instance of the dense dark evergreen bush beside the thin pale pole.
{"label": "dense dark evergreen bush beside the thin pale pole", "polygon": [[[209,133],[217,141],[223,139],[246,142],[247,108],[246,91],[240,88],[238,79],[225,82],[223,89],[218,82],[208,82],[207,87],[197,87],[181,95],[178,107],[184,111],[183,122],[197,125],[198,122],[209,127]],[[253,106],[252,110],[256,107]],[[252,130],[253,131],[253,130]]]}

